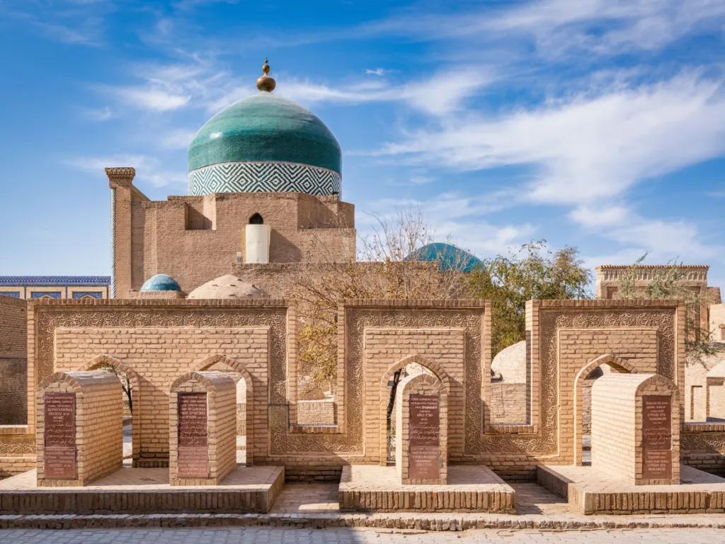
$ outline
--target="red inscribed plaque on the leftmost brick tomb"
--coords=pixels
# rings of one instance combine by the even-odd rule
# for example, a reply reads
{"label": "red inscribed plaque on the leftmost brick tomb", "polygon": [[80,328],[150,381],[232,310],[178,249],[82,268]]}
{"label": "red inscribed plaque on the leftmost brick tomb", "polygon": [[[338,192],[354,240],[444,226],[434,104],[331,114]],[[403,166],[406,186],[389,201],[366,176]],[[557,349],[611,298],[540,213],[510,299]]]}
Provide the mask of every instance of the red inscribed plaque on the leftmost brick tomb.
{"label": "red inscribed plaque on the leftmost brick tomb", "polygon": [[46,393],[43,469],[46,478],[75,478],[75,393]]}

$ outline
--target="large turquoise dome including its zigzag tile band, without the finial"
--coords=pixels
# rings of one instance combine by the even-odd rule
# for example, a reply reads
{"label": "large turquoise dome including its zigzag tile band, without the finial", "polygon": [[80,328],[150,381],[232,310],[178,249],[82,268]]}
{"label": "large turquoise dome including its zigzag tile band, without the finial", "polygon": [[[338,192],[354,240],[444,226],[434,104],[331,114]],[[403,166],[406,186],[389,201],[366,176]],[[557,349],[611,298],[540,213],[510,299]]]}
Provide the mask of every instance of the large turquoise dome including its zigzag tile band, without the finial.
{"label": "large turquoise dome including its zigzag tile band, without the finial", "polygon": [[189,193],[340,191],[340,146],[320,119],[268,91],[212,117],[188,148]]}

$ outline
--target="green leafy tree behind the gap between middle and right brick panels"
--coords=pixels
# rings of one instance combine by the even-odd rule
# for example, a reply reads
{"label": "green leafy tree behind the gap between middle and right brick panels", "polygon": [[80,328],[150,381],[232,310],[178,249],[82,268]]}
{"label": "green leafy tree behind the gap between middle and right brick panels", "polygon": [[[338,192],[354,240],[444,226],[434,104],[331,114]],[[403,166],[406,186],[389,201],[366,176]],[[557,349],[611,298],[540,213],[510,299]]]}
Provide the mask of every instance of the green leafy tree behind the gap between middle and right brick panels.
{"label": "green leafy tree behind the gap between middle and right brick panels", "polygon": [[492,355],[526,338],[526,301],[591,298],[592,272],[576,247],[552,252],[546,240],[484,260],[469,274],[471,297],[491,300]]}

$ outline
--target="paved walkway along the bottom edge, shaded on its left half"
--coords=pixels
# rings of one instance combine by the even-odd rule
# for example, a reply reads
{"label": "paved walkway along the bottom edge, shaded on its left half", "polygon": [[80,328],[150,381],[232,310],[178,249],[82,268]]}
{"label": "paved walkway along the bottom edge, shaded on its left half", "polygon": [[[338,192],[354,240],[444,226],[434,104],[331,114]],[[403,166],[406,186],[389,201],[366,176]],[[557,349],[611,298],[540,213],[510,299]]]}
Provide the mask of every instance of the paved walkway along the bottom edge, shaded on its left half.
{"label": "paved walkway along the bottom edge, shaded on its left half", "polygon": [[505,531],[465,533],[381,532],[365,529],[100,529],[0,531],[0,544],[487,544],[487,543],[647,543],[714,544],[725,540],[716,529],[618,529],[597,531]]}

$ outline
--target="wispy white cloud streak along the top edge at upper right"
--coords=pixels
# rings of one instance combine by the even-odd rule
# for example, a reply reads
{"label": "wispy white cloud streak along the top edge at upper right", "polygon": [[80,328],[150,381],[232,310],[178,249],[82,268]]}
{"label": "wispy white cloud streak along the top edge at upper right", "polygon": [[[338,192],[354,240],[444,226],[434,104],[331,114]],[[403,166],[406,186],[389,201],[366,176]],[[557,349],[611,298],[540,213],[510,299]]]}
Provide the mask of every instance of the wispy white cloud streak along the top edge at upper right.
{"label": "wispy white cloud streak along the top edge at upper right", "polygon": [[[473,4],[476,6],[476,4]],[[366,23],[347,36],[388,34],[420,41],[531,41],[546,57],[588,53],[612,55],[654,51],[696,28],[718,29],[725,17],[720,0],[535,0],[496,9],[431,14],[405,9]],[[346,35],[341,33],[339,37]]]}

